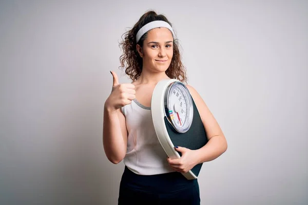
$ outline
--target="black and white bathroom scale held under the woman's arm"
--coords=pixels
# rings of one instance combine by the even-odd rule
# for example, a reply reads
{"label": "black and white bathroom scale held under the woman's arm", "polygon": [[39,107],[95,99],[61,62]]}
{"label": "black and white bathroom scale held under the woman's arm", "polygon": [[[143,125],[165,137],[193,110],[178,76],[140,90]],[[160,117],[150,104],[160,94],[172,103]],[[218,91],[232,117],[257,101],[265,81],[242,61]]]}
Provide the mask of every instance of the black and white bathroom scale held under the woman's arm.
{"label": "black and white bathroom scale held under the woman's arm", "polygon": [[[151,98],[151,115],[160,144],[171,159],[181,157],[175,146],[197,150],[208,141],[194,99],[180,80],[159,81]],[[196,179],[202,164],[182,174]]]}

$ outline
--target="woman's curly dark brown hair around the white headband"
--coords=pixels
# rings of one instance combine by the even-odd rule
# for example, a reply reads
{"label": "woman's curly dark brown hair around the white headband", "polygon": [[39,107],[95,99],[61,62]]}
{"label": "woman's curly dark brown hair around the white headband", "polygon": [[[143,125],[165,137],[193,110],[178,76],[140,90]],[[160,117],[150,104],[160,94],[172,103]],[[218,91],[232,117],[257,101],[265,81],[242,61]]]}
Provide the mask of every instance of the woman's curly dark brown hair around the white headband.
{"label": "woman's curly dark brown hair around the white headband", "polygon": [[[124,39],[122,35],[122,41],[119,43],[120,48],[122,47],[123,50],[123,54],[120,56],[121,66],[119,68],[125,69],[125,73],[130,77],[132,81],[137,80],[142,72],[142,57],[140,57],[136,46],[137,44],[139,44],[141,47],[143,46],[143,40],[146,39],[148,33],[145,33],[140,38],[139,42],[136,43],[137,32],[144,25],[154,20],[163,20],[172,27],[172,24],[164,15],[158,15],[155,11],[148,11],[140,17],[132,29],[123,34],[125,35]],[[174,54],[172,56],[169,68],[166,70],[166,75],[172,79],[178,79],[183,83],[186,83],[186,68],[181,61],[178,39],[175,38],[173,51]]]}

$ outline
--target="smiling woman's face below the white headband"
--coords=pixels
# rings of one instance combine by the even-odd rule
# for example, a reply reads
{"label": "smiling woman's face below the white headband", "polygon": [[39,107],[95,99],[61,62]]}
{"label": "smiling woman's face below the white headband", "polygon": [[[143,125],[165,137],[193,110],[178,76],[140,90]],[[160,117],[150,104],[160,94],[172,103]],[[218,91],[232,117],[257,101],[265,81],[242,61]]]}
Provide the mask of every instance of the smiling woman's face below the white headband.
{"label": "smiling woman's face below the white headband", "polygon": [[165,72],[173,56],[173,36],[167,28],[155,28],[148,32],[138,52],[143,58],[143,69],[152,72]]}

